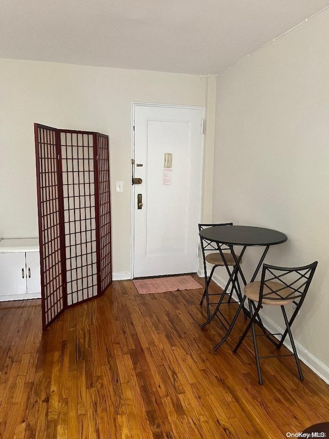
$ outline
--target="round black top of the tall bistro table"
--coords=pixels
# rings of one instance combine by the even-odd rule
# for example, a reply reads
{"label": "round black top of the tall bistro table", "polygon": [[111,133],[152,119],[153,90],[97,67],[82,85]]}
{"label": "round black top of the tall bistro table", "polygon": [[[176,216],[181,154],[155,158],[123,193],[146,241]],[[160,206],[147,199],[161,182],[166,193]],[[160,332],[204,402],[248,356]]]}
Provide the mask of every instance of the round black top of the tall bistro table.
{"label": "round black top of the tall bistro table", "polygon": [[209,241],[228,245],[275,245],[288,239],[277,230],[249,225],[216,225],[200,231],[199,235]]}

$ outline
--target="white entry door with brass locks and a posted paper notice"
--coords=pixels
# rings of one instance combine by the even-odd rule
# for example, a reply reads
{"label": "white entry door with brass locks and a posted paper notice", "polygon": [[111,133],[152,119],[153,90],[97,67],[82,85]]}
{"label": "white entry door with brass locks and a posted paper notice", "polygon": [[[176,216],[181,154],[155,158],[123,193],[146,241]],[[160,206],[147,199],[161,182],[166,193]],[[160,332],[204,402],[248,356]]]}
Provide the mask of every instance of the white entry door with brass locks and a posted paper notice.
{"label": "white entry door with brass locks and a posted paper notice", "polygon": [[134,277],[195,272],[203,109],[134,104]]}

